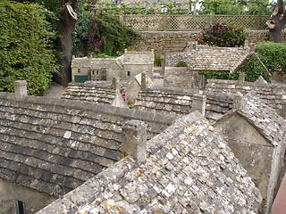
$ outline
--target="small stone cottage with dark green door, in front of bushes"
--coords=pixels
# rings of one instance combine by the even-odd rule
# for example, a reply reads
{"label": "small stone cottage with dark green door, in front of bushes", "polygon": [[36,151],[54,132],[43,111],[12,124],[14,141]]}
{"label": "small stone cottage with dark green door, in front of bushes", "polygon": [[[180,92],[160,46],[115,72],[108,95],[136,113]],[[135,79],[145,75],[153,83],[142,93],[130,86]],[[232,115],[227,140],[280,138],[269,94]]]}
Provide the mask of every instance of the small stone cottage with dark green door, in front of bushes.
{"label": "small stone cottage with dark green door, in front of bushes", "polygon": [[153,76],[154,51],[128,52],[117,58],[75,58],[71,61],[71,81],[130,80],[146,71]]}

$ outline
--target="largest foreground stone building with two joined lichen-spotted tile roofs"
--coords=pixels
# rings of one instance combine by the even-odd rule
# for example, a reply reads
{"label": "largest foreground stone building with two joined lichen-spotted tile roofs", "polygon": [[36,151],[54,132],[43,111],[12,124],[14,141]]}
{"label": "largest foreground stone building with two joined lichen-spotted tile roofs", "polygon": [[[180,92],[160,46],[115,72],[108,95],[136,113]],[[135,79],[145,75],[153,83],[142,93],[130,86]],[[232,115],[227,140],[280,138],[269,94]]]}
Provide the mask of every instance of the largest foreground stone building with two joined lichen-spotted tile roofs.
{"label": "largest foreground stone building with two joined lichen-spotted tile roofs", "polygon": [[0,177],[60,197],[39,213],[257,212],[257,187],[198,111],[178,119],[27,96],[24,85],[15,85],[15,95],[0,93]]}

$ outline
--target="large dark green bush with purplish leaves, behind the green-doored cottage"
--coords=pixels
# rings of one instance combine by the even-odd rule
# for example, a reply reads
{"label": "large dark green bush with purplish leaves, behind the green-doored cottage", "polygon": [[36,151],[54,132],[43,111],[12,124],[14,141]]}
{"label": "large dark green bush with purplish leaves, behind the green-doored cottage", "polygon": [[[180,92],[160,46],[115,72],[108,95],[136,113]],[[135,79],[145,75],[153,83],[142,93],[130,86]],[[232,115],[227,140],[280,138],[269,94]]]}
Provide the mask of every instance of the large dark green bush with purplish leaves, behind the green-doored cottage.
{"label": "large dark green bush with purplish leaves, behind the green-doored cottage", "polygon": [[78,12],[78,17],[72,38],[72,54],[77,56],[88,53],[116,56],[123,53],[124,48],[131,45],[138,36],[134,29],[127,27],[110,12],[100,9],[88,12],[83,7]]}

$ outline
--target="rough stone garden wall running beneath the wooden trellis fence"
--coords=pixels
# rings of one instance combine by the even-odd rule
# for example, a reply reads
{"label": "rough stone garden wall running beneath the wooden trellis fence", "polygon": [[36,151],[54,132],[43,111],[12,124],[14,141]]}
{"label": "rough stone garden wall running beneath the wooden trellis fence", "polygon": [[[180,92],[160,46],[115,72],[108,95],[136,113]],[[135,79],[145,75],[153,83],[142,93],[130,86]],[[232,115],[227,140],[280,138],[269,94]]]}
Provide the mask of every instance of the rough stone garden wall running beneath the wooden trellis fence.
{"label": "rough stone garden wall running beneath the wooden trellis fence", "polygon": [[[142,31],[131,51],[149,51],[156,53],[181,52],[188,42],[194,42],[200,31]],[[268,40],[268,30],[246,30],[249,43],[257,44]],[[286,43],[285,31],[282,32],[282,43]]]}

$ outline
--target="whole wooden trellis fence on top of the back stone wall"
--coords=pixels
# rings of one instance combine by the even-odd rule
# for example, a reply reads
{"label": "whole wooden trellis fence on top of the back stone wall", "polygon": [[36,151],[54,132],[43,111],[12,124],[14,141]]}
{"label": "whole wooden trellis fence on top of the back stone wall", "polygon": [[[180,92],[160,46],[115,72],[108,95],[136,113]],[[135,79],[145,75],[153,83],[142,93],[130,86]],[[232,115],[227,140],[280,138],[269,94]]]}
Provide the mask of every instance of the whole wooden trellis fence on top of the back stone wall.
{"label": "whole wooden trellis fence on top of the back stone wall", "polygon": [[201,30],[218,21],[244,29],[267,29],[267,15],[122,15],[122,21],[139,30]]}

